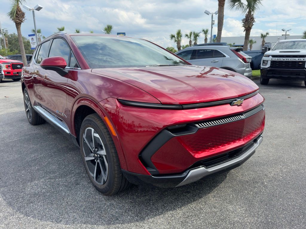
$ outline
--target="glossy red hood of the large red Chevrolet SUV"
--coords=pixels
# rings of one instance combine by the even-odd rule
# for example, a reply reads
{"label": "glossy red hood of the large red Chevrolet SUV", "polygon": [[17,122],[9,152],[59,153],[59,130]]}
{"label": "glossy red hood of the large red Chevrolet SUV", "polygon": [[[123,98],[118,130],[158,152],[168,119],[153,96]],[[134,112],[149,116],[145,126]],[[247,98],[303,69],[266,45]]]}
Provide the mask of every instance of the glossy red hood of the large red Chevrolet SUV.
{"label": "glossy red hood of the large red Chevrolet SUV", "polygon": [[151,94],[162,104],[226,100],[258,90],[258,86],[245,76],[216,67],[185,65],[100,68],[92,69],[92,72],[132,84]]}

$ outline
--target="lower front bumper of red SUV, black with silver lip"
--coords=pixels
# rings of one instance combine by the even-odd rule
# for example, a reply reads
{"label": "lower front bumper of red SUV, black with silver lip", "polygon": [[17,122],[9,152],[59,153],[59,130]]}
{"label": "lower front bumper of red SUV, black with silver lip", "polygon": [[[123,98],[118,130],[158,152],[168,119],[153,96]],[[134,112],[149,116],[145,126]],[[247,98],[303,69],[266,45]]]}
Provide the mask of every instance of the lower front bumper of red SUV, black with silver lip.
{"label": "lower front bumper of red SUV, black with silver lip", "polygon": [[248,158],[250,158],[255,153],[256,148],[261,144],[262,141],[263,137],[260,135],[251,143],[249,143],[249,146],[246,148],[246,150],[239,156],[208,168],[202,165],[188,169],[183,173],[160,176],[142,175],[137,173],[131,173],[125,170],[122,170],[122,172],[131,183],[136,185],[151,184],[157,187],[179,187],[203,178],[215,176],[219,173],[224,173],[242,165],[245,161],[248,160]]}

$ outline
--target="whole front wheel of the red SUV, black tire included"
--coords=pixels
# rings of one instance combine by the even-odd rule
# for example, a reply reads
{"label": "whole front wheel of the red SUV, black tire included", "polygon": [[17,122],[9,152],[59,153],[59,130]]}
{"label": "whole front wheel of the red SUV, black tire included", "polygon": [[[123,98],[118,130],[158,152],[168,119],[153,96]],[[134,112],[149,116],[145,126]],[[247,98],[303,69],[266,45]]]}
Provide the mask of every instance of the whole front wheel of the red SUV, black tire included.
{"label": "whole front wheel of the red SUV, black tire included", "polygon": [[110,196],[130,186],[121,172],[113,139],[98,114],[84,118],[80,129],[80,149],[86,173],[99,192]]}

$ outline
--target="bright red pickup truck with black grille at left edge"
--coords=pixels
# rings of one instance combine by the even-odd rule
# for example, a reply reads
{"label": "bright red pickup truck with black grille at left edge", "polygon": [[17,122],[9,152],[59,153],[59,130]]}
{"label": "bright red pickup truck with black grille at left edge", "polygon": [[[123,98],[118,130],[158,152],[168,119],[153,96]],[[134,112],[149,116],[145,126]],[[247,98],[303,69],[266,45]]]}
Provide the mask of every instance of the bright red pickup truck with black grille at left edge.
{"label": "bright red pickup truck with black grille at left edge", "polygon": [[23,67],[22,62],[18,60],[5,59],[3,56],[0,56],[0,64],[5,79],[12,79],[14,81],[20,80]]}

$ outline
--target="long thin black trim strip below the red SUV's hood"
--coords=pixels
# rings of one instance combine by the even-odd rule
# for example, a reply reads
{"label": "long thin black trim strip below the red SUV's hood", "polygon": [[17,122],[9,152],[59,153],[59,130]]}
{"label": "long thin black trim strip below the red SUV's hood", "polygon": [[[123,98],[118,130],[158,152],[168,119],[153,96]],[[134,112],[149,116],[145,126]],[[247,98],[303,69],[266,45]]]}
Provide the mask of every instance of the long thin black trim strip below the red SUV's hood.
{"label": "long thin black trim strip below the red SUV's hood", "polygon": [[248,94],[246,96],[241,96],[239,98],[228,99],[228,100],[220,100],[215,102],[207,102],[207,103],[199,103],[199,104],[185,104],[185,105],[171,105],[171,104],[154,104],[154,103],[142,103],[142,102],[134,102],[129,100],[121,100],[118,101],[126,106],[132,107],[143,107],[143,108],[152,108],[152,109],[167,109],[167,110],[187,110],[187,109],[196,109],[196,108],[203,108],[203,107],[213,107],[223,104],[230,104],[232,101],[237,99],[248,99],[255,96],[258,91]]}

